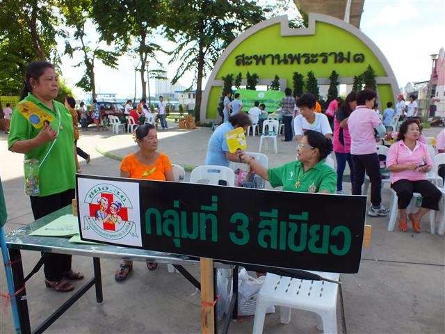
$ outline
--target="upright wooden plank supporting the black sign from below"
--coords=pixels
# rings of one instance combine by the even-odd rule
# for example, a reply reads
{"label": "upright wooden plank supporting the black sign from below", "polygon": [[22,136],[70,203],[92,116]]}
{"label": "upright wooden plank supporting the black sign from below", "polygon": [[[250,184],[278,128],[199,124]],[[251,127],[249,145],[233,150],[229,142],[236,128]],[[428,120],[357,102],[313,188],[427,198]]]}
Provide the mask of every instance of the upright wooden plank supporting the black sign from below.
{"label": "upright wooden plank supporting the black sign from below", "polygon": [[201,333],[215,333],[213,260],[201,257]]}

